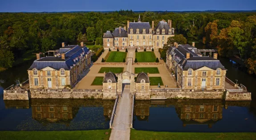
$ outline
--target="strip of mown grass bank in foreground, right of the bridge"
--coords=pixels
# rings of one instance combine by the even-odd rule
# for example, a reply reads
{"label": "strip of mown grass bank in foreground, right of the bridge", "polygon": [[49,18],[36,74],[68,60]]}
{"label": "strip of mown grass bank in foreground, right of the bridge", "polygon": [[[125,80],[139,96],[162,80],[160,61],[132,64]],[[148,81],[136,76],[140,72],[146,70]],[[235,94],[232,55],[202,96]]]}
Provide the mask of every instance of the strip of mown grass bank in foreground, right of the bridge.
{"label": "strip of mown grass bank in foreground, right of the bridge", "polygon": [[131,129],[130,140],[255,140],[256,133],[152,132]]}

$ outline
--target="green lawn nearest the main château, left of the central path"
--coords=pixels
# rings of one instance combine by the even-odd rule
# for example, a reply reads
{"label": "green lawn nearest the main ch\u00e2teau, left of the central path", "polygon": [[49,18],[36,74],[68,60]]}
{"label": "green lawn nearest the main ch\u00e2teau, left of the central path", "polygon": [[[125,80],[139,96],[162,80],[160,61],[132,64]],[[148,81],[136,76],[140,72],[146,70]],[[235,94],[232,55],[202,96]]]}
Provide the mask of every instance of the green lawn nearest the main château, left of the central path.
{"label": "green lawn nearest the main ch\u00e2teau, left of the central path", "polygon": [[123,62],[123,59],[126,60],[126,52],[109,52],[107,54],[106,62]]}

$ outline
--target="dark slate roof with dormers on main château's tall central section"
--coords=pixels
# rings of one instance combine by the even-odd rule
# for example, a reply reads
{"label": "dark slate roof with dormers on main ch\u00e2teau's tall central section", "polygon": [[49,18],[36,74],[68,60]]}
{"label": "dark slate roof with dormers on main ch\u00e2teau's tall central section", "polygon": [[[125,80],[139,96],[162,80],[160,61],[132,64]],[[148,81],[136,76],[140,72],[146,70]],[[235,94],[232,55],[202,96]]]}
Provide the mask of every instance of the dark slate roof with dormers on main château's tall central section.
{"label": "dark slate roof with dormers on main ch\u00e2teau's tall central section", "polygon": [[149,33],[150,24],[149,22],[130,22],[129,23],[129,28],[128,28],[128,33],[130,33],[130,29],[133,29],[133,33],[136,34],[136,29],[139,29],[139,33],[142,34],[143,29],[146,29],[146,34]]}

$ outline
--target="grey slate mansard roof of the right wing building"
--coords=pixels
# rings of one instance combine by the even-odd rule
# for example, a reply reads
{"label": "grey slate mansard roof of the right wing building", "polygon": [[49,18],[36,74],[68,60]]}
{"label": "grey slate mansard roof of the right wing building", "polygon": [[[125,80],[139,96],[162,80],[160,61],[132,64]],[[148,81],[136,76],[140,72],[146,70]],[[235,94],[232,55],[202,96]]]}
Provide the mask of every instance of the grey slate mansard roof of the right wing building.
{"label": "grey slate mansard roof of the right wing building", "polygon": [[[179,45],[178,48],[174,46],[170,47],[168,54],[180,65],[183,70],[187,71],[189,68],[193,70],[202,68],[204,66],[216,70],[221,68],[226,70],[218,59],[214,59],[209,56],[198,56],[195,52],[192,52],[189,48],[193,48],[190,45]],[[186,59],[187,52],[190,53],[190,58]]]}

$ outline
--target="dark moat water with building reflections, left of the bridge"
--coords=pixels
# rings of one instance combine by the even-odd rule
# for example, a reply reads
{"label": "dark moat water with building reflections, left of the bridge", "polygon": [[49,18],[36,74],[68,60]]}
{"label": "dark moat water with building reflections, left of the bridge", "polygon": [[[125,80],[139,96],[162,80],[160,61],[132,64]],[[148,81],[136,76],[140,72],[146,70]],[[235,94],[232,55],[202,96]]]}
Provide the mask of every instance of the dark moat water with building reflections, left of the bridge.
{"label": "dark moat water with building reflections, left of the bridge", "polygon": [[114,100],[89,99],[5,100],[4,103],[0,130],[107,129],[114,107]]}

